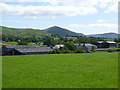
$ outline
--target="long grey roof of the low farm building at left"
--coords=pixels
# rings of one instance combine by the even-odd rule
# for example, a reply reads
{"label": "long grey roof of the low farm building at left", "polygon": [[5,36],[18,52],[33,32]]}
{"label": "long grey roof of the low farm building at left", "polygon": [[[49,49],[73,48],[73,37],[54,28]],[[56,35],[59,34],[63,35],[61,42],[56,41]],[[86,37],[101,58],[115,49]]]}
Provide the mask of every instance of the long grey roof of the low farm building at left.
{"label": "long grey roof of the low farm building at left", "polygon": [[19,52],[49,52],[52,51],[50,47],[41,47],[36,45],[6,45],[7,48],[14,48]]}

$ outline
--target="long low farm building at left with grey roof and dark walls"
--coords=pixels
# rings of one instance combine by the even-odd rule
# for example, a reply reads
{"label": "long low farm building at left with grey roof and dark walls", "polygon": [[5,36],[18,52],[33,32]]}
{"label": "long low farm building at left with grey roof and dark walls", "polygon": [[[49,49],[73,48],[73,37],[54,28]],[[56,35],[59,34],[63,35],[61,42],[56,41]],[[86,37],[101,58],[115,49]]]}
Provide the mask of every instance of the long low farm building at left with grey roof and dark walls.
{"label": "long low farm building at left with grey roof and dark walls", "polygon": [[52,50],[50,47],[35,45],[3,45],[2,55],[47,54]]}

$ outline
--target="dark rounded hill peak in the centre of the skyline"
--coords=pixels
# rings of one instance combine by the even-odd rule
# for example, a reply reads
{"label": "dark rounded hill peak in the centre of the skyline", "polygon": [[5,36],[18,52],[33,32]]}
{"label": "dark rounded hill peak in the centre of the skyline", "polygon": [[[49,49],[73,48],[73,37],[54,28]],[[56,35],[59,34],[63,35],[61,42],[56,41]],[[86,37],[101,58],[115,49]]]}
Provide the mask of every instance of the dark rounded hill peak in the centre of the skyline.
{"label": "dark rounded hill peak in the centre of the skyline", "polygon": [[47,28],[44,30],[44,32],[48,32],[51,34],[58,34],[61,36],[83,36],[82,33],[75,33],[70,30],[58,27],[58,26],[53,26],[53,27]]}

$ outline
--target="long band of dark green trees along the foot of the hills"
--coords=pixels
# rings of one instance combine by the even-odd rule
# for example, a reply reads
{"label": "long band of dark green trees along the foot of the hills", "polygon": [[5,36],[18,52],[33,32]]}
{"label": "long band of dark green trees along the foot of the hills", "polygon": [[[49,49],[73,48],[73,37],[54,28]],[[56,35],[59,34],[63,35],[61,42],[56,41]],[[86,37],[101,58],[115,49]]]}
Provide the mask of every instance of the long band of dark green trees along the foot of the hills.
{"label": "long band of dark green trees along the foot of the hills", "polygon": [[[96,41],[105,41],[104,38],[100,37],[86,37],[86,36],[79,36],[76,38],[68,38],[68,37],[62,37],[60,35],[51,35],[51,36],[45,36],[45,37],[19,37],[19,36],[6,36],[2,35],[2,41],[6,42],[18,42],[18,41],[24,41],[24,42],[32,42],[40,45],[40,42],[43,42],[44,45],[47,45],[49,47],[53,47],[56,44],[65,44],[66,42],[73,42],[73,43],[94,43]],[[120,42],[120,39],[115,39],[115,42]],[[23,42],[22,42],[23,43]]]}

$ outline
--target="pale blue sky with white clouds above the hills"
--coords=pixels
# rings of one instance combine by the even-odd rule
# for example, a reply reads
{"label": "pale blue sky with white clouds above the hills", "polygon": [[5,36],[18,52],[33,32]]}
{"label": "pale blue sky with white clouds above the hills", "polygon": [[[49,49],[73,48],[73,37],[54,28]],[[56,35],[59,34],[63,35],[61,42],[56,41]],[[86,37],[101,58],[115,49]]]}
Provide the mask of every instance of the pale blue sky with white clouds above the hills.
{"label": "pale blue sky with white clouds above the hills", "polygon": [[118,0],[0,0],[0,25],[77,33],[118,33]]}

